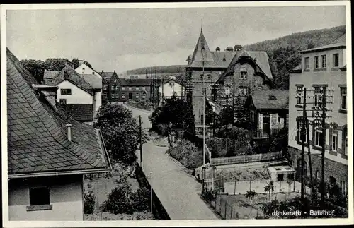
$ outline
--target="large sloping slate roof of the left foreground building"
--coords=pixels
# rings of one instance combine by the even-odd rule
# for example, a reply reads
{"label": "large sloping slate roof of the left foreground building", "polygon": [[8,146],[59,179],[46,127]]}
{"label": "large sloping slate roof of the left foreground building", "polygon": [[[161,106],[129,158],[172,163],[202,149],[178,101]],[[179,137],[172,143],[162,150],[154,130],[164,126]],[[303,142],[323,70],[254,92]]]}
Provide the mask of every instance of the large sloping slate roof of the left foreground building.
{"label": "large sloping slate roof of the left foreground building", "polygon": [[110,171],[101,132],[60,107],[55,112],[32,84],[38,82],[7,49],[8,174]]}

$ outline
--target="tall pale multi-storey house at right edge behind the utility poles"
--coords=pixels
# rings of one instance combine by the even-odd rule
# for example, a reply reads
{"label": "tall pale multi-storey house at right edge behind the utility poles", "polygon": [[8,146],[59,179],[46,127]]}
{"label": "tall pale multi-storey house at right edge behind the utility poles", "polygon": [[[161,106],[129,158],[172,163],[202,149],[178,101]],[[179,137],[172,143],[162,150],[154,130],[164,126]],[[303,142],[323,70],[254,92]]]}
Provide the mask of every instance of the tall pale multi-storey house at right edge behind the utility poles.
{"label": "tall pale multi-storey house at right edge behind the utility poles", "polygon": [[[307,49],[302,53],[302,63],[290,73],[289,95],[289,152],[291,164],[296,167],[297,179],[301,172],[302,140],[309,145],[312,156],[312,175],[321,179],[321,150],[325,147],[324,179],[327,183],[337,184],[343,194],[348,192],[348,119],[347,119],[347,72],[346,72],[346,35],[324,47]],[[307,116],[309,119],[309,141],[302,138],[301,116],[304,105],[304,88],[307,88]],[[321,88],[329,89],[326,107],[326,137],[323,143],[319,107]],[[333,90],[333,91],[331,91]],[[312,111],[313,110],[313,111]],[[307,150],[307,149],[306,149]],[[304,172],[309,178],[309,161],[305,156]]]}

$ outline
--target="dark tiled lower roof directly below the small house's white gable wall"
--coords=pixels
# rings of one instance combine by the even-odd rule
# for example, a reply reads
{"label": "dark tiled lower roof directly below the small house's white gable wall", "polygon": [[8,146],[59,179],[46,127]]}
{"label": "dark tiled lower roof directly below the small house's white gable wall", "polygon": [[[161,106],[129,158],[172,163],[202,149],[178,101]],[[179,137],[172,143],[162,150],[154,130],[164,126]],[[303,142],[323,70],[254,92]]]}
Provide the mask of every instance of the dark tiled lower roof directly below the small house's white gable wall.
{"label": "dark tiled lower roof directly below the small house's white gable wall", "polygon": [[62,107],[72,119],[77,121],[93,121],[93,105],[92,104],[57,104]]}

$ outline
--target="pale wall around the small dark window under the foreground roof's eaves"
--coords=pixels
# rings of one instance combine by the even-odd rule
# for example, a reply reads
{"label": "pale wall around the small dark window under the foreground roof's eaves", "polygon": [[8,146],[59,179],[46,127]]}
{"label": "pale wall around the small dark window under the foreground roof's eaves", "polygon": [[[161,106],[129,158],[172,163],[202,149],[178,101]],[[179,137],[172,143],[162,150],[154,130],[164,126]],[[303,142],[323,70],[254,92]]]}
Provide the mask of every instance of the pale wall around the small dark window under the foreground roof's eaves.
{"label": "pale wall around the small dark window under the foreground roof's eaves", "polygon": [[[82,175],[51,179],[36,178],[8,181],[9,220],[83,220]],[[52,210],[27,211],[30,205],[29,188],[35,186],[50,187]]]}

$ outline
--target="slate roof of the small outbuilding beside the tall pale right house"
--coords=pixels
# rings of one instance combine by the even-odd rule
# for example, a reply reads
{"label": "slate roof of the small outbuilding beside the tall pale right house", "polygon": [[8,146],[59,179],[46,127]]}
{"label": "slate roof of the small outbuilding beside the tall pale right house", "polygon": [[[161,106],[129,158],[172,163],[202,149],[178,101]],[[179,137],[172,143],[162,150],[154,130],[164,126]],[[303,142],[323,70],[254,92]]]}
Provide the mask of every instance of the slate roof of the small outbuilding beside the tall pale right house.
{"label": "slate roof of the small outbuilding beside the tall pale right house", "polygon": [[[275,100],[270,96],[274,96]],[[258,110],[289,109],[289,90],[255,90],[249,99]]]}

